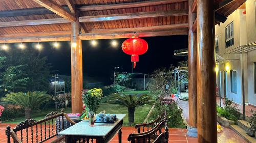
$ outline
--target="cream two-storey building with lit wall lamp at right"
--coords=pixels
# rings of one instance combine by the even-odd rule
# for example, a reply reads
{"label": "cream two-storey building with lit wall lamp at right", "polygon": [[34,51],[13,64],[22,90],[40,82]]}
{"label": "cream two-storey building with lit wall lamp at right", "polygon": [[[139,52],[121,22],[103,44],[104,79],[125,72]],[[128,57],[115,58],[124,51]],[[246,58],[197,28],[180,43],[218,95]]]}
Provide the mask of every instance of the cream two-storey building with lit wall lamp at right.
{"label": "cream two-storey building with lit wall lamp at right", "polygon": [[[247,0],[227,20],[215,26],[216,59],[218,72],[216,84],[221,97],[242,105],[256,107],[256,2]],[[243,62],[242,59],[242,49]],[[243,65],[243,66],[241,66]],[[244,72],[244,86],[242,82]]]}

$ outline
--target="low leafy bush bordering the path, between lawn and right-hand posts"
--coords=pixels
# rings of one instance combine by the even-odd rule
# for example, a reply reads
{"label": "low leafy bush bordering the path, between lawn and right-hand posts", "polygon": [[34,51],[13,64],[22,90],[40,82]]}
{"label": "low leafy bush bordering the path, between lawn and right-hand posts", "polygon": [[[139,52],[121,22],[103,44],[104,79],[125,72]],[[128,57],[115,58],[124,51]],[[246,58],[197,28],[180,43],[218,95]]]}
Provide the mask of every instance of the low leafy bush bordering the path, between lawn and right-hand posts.
{"label": "low leafy bush bordering the path, between lawn and right-hand posts", "polygon": [[182,109],[178,106],[177,102],[172,101],[168,104],[162,104],[160,101],[156,101],[155,108],[153,109],[148,121],[153,121],[161,115],[166,109],[169,128],[185,128],[185,124],[181,117]]}

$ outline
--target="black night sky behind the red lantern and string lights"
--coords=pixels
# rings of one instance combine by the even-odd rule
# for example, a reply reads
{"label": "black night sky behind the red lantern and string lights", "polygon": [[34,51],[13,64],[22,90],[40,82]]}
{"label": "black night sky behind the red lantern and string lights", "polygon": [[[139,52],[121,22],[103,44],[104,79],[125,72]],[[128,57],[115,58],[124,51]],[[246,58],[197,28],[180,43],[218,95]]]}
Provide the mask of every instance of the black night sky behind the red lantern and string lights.
{"label": "black night sky behind the red lantern and string lights", "polygon": [[[175,49],[187,48],[187,36],[164,36],[142,38],[148,43],[148,50],[139,56],[139,62],[133,72],[150,74],[155,69],[169,67],[170,64],[177,65],[174,57]],[[111,45],[111,40],[97,40],[98,45],[93,47],[90,40],[82,41],[83,75],[105,76],[113,75],[114,67],[122,67],[122,71],[131,72],[131,56],[125,54],[121,44],[126,39],[116,39],[117,47]],[[54,49],[49,42],[41,43],[44,48],[40,51],[41,56],[47,56],[48,62],[52,64],[53,70],[59,75],[71,74],[71,46],[70,42],[60,42],[59,49]]]}

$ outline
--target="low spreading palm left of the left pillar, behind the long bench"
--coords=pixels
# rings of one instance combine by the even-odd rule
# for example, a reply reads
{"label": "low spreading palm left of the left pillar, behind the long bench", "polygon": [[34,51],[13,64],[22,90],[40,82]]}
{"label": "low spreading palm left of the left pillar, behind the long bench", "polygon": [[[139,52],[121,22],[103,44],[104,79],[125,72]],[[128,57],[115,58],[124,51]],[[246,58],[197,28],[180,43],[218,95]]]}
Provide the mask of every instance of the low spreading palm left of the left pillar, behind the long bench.
{"label": "low spreading palm left of the left pillar, behind the long bench", "polygon": [[11,103],[23,107],[25,109],[25,118],[31,118],[31,110],[38,108],[41,104],[48,102],[51,96],[46,92],[18,92],[9,93],[1,100],[6,103]]}

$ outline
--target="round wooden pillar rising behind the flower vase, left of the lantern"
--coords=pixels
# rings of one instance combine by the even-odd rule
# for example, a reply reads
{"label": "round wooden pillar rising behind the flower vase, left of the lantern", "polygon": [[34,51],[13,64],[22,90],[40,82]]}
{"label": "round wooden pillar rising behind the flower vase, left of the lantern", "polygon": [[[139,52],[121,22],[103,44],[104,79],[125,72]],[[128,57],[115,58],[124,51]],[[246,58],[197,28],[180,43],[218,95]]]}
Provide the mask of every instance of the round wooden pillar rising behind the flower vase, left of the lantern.
{"label": "round wooden pillar rising behind the flower vase, left of the lantern", "polygon": [[[71,22],[71,96],[72,113],[82,112],[82,42],[78,37],[80,24]],[[75,44],[74,44],[75,43]]]}

